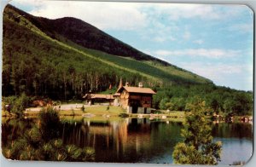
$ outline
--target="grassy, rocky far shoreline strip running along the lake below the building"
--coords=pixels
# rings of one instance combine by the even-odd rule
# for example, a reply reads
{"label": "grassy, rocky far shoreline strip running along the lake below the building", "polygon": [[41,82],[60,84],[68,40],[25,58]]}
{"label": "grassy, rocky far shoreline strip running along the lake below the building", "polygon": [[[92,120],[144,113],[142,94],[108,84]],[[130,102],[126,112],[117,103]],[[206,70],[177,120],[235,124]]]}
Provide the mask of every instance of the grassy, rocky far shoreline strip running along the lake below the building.
{"label": "grassy, rocky far shoreline strip running along the lake below the building", "polygon": [[[81,107],[84,106],[84,112]],[[119,119],[119,118],[149,118],[149,119],[162,119],[162,120],[173,120],[178,122],[184,122],[185,112],[184,111],[171,111],[167,113],[126,113],[121,107],[105,105],[93,105],[88,106],[84,104],[65,104],[60,106],[55,106],[54,108],[59,113],[60,118],[90,118],[90,119]],[[30,107],[26,108],[23,112],[22,117],[24,118],[37,118],[39,112],[43,107]],[[58,110],[58,108],[61,108]],[[122,115],[123,114],[123,115]],[[2,111],[2,118],[19,118],[16,113]],[[246,120],[247,119],[247,120]],[[234,116],[232,122],[252,122],[253,116]],[[224,119],[212,119],[212,123],[225,122]]]}

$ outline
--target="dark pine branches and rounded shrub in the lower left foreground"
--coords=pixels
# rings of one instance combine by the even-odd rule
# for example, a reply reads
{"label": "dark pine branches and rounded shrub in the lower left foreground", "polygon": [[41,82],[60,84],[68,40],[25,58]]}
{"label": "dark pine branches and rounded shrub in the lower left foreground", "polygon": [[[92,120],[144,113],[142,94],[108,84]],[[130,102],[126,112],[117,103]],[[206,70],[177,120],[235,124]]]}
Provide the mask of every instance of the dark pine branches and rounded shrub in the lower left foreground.
{"label": "dark pine branches and rounded shrub in the lower left foreground", "polygon": [[[16,120],[15,120],[16,121]],[[19,160],[93,161],[94,149],[65,145],[60,139],[61,122],[52,108],[40,112],[36,123],[18,121],[3,126],[9,133],[3,141],[3,155]],[[17,134],[14,134],[17,132]]]}

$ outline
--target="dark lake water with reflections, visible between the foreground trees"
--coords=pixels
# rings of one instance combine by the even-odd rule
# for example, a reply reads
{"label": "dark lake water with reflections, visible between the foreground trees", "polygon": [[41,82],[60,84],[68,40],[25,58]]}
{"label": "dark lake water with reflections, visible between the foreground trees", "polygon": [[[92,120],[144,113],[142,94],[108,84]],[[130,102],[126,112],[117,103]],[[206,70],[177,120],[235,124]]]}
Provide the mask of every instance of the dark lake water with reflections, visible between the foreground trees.
{"label": "dark lake water with reflections, visible between the foreground trees", "polygon": [[[3,122],[3,147],[10,141],[9,133],[12,133],[13,139],[16,137],[14,135],[22,134],[19,130],[13,130],[15,124],[21,124],[21,120]],[[25,124],[21,127],[34,122],[26,120]],[[119,118],[111,121],[69,118],[62,121],[60,131],[65,144],[95,148],[96,162],[172,164],[173,147],[183,140],[181,129],[181,122],[148,118]],[[218,164],[247,162],[253,153],[252,124],[212,124],[212,136],[214,141],[223,143],[221,162]]]}

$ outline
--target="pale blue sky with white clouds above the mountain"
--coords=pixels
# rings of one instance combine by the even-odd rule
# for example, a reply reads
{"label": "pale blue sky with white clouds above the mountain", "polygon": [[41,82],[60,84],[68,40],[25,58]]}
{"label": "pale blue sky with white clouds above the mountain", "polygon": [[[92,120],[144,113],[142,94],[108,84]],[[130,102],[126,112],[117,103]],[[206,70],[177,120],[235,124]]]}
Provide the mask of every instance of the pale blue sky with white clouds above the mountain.
{"label": "pale blue sky with white clouds above the mountain", "polygon": [[75,17],[213,83],[253,90],[253,11],[245,5],[14,0],[29,14]]}

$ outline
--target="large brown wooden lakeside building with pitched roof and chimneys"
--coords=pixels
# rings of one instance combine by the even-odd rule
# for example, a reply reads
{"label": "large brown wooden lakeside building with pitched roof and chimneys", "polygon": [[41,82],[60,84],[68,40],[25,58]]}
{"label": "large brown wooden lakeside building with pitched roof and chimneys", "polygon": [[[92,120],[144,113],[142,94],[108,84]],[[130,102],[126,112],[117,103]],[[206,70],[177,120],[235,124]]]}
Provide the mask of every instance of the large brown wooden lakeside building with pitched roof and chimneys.
{"label": "large brown wooden lakeside building with pitched roof and chimneys", "polygon": [[152,110],[152,96],[156,94],[150,88],[130,87],[128,84],[118,89],[120,94],[120,106],[127,109],[129,113],[150,113]]}

